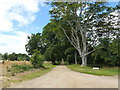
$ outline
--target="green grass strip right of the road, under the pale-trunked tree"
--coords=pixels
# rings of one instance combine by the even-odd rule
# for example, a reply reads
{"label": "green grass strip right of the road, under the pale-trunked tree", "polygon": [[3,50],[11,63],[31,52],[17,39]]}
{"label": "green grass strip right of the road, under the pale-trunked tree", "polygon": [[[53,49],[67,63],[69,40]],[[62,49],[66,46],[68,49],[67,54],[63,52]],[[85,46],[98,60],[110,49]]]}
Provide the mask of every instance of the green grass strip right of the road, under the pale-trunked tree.
{"label": "green grass strip right of the road, under the pale-trunked tree", "polygon": [[92,75],[98,75],[98,76],[114,76],[118,75],[118,68],[109,68],[109,67],[103,67],[99,70],[93,70],[92,67],[81,67],[80,65],[67,65],[68,68],[70,68],[73,71],[86,73],[86,74],[92,74]]}

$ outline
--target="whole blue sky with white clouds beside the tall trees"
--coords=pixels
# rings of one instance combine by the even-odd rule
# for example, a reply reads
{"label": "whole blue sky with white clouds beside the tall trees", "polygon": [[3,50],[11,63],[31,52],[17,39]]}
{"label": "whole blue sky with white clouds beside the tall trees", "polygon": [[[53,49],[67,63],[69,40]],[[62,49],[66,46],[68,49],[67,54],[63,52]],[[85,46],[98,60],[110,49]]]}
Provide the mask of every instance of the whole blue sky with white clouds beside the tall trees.
{"label": "whole blue sky with white clouds beside the tall trees", "polygon": [[50,19],[50,6],[40,1],[0,0],[0,53],[27,53],[27,35],[42,32]]}

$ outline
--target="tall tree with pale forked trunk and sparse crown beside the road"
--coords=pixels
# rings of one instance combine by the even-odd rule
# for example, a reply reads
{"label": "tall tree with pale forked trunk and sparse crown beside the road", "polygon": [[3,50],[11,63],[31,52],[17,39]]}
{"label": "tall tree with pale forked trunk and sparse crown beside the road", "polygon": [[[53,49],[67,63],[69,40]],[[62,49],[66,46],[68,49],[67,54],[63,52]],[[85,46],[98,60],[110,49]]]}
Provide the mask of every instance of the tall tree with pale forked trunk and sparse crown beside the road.
{"label": "tall tree with pale forked trunk and sparse crown beside the road", "polygon": [[89,48],[98,43],[98,31],[109,30],[106,17],[113,9],[105,2],[53,2],[51,6],[51,16],[79,52],[81,66],[87,66],[87,55],[93,52]]}

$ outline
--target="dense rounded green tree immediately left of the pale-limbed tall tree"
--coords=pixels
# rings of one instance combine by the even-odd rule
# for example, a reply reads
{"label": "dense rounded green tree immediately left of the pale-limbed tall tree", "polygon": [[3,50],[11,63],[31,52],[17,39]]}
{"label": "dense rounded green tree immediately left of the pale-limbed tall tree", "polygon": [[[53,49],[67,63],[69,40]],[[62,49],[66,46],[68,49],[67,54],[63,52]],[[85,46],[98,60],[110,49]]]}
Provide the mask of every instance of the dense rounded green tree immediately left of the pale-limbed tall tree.
{"label": "dense rounded green tree immediately left of the pale-limbed tall tree", "polygon": [[44,27],[42,33],[42,38],[46,44],[45,59],[51,60],[53,64],[58,64],[62,59],[66,60],[64,51],[70,45],[63,31],[59,29],[56,22],[51,21]]}

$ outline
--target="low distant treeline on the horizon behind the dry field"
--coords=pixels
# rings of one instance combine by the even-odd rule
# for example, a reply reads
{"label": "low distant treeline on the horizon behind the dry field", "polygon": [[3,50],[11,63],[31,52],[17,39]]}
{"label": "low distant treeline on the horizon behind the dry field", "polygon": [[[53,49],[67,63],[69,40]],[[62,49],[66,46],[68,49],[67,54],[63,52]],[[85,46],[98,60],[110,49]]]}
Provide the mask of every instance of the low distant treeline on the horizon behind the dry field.
{"label": "low distant treeline on the horizon behind the dry field", "polygon": [[2,60],[10,60],[10,61],[29,61],[30,60],[30,57],[27,55],[27,54],[22,54],[22,53],[19,53],[19,54],[16,54],[16,53],[12,53],[12,54],[8,54],[8,53],[5,53],[5,54],[1,54],[2,56]]}

